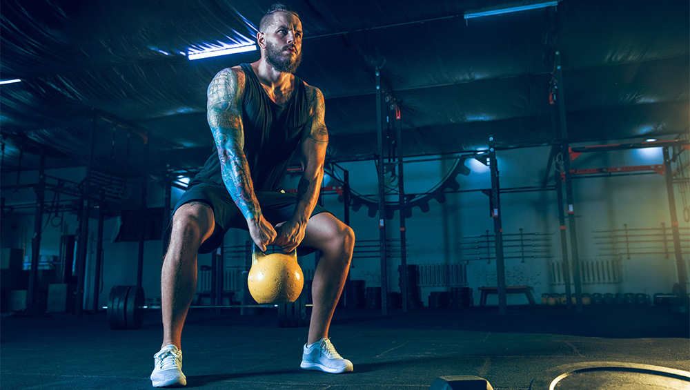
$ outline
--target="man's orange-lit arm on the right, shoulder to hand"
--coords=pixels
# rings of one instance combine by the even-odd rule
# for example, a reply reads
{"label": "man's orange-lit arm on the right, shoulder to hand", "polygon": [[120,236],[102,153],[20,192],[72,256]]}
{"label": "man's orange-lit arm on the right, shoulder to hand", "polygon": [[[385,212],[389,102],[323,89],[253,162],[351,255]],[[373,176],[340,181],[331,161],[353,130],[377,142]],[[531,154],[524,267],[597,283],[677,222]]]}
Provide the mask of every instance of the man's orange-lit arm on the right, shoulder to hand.
{"label": "man's orange-lit arm on the right, shoulder to hand", "polygon": [[305,85],[310,105],[307,131],[302,138],[302,178],[297,185],[297,206],[293,217],[279,225],[275,244],[290,252],[304,239],[304,230],[314,211],[324,179],[328,130],[324,122],[324,95],[319,88]]}

